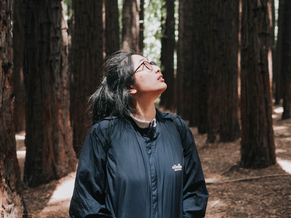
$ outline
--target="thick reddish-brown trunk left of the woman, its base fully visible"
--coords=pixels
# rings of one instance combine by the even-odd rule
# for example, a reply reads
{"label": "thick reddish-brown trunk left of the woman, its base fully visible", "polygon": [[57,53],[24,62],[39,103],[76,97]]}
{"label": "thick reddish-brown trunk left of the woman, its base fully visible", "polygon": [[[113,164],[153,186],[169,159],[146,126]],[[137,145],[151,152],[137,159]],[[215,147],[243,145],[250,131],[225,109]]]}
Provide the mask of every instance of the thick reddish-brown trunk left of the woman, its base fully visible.
{"label": "thick reddish-brown trunk left of the woman, its base fully visible", "polygon": [[68,35],[62,1],[26,0],[24,182],[37,186],[75,169],[70,125]]}

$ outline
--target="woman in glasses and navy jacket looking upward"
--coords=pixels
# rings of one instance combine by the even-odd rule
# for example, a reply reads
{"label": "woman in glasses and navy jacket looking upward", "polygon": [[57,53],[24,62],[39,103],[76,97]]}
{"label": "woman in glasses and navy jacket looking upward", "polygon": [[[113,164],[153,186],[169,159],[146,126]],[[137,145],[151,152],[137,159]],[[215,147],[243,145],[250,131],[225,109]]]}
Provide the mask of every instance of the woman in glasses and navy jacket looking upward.
{"label": "woman in glasses and navy jacket looking upward", "polygon": [[155,108],[160,68],[132,51],[104,65],[91,96],[93,127],[80,154],[70,217],[204,217],[208,191],[193,135]]}

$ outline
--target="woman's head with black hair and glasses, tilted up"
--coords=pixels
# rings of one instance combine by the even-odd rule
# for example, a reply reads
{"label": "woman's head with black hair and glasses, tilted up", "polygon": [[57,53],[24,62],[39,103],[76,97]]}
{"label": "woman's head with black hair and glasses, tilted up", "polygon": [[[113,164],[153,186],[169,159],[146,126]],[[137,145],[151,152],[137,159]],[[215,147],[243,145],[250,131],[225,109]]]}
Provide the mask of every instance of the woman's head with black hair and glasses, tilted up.
{"label": "woman's head with black hair and glasses, tilted up", "polygon": [[[132,50],[118,51],[106,60],[102,84],[89,99],[93,111],[93,124],[114,114],[125,117],[130,113],[136,113],[132,104],[134,99],[140,97],[139,94],[144,90],[151,90],[147,85],[150,82],[149,76],[143,75],[148,71],[142,64],[143,61],[148,60]],[[155,83],[161,79],[161,76],[157,75],[160,69],[157,66],[152,68],[155,74],[151,73],[150,76],[154,78],[152,81]],[[154,86],[157,87],[157,84]],[[165,89],[166,87],[162,91]]]}

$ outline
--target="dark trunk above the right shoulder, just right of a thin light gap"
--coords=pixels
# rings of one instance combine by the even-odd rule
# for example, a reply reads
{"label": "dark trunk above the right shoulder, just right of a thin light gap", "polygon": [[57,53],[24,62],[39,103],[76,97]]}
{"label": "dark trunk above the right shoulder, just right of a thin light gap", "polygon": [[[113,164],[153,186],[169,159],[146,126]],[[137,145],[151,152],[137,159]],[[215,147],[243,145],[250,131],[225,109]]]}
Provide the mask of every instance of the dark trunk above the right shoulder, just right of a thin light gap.
{"label": "dark trunk above the right shoulder, just right of a thin light gap", "polygon": [[194,68],[194,1],[179,2],[179,39],[177,48],[177,113],[197,125],[197,72]]}

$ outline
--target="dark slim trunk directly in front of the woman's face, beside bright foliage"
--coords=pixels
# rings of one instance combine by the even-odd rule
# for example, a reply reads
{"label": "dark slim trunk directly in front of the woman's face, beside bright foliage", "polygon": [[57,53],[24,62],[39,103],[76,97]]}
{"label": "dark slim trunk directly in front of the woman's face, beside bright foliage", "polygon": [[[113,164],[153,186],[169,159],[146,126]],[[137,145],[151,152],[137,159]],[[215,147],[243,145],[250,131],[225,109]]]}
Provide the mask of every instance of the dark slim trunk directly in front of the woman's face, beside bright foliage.
{"label": "dark slim trunk directly in front of the woman's face, beside bright foliage", "polygon": [[[174,50],[175,50],[175,4],[174,0],[166,0],[165,24],[162,25],[164,36],[162,37],[161,63],[163,75],[166,79],[167,89],[161,96],[160,104],[174,111]],[[162,22],[163,23],[163,22]]]}

